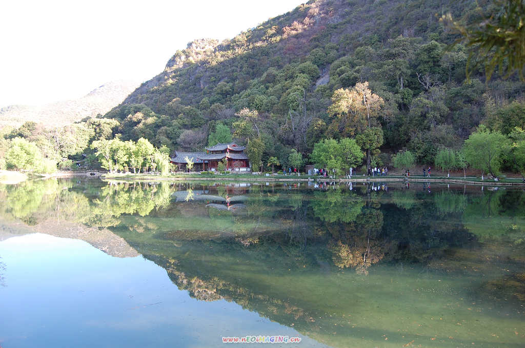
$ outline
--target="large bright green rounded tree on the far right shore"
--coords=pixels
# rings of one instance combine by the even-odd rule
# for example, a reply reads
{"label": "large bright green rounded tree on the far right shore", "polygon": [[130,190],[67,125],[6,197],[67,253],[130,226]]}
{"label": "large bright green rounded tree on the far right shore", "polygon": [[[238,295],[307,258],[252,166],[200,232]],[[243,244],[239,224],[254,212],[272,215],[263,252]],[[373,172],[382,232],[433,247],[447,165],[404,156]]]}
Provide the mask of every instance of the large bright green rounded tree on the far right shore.
{"label": "large bright green rounded tree on the far right shore", "polygon": [[481,173],[490,173],[497,180],[501,155],[509,145],[509,140],[500,132],[490,132],[486,126],[478,130],[465,141],[463,151],[465,159]]}

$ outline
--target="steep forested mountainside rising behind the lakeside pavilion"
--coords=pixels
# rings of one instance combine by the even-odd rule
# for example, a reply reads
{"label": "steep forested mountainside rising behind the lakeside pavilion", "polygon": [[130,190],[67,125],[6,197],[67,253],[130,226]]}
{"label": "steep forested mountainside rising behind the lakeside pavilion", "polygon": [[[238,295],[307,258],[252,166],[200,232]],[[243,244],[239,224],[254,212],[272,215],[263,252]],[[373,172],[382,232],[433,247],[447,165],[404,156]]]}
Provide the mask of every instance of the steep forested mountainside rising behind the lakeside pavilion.
{"label": "steep forested mountainside rising behind the lakeside pavilion", "polygon": [[[523,173],[525,164],[515,164],[525,159],[522,71],[509,76],[504,60],[489,79],[489,62],[472,54],[476,46],[452,46],[460,35],[440,20],[450,14],[467,25],[499,12],[501,3],[491,1],[310,1],[233,39],[193,41],[97,119],[60,131],[38,124],[4,129],[0,155],[21,136],[62,167],[92,166],[100,157],[93,141],[144,138],[170,151],[202,151],[233,137],[254,150],[257,168],[290,165],[295,152],[301,164],[327,166],[310,156],[315,145],[349,138],[362,151],[359,165],[394,164],[398,151],[434,164],[440,151],[463,156],[464,141],[477,132],[503,136],[494,140],[502,150],[498,163],[468,164],[495,175],[500,167]],[[81,144],[62,146],[60,132]]]}

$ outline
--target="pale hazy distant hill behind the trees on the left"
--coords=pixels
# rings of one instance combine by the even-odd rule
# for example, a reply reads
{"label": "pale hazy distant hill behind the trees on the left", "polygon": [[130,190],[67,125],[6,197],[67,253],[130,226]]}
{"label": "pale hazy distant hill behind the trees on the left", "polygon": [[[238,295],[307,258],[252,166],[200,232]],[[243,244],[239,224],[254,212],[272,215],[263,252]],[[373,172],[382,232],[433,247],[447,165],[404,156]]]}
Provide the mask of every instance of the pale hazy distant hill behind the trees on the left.
{"label": "pale hazy distant hill behind the trees on the left", "polygon": [[121,103],[135,88],[137,88],[135,82],[112,81],[79,99],[42,106],[7,106],[0,109],[0,127],[4,125],[17,127],[26,121],[43,123],[47,126],[62,126],[86,117],[95,117]]}

